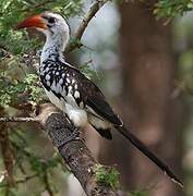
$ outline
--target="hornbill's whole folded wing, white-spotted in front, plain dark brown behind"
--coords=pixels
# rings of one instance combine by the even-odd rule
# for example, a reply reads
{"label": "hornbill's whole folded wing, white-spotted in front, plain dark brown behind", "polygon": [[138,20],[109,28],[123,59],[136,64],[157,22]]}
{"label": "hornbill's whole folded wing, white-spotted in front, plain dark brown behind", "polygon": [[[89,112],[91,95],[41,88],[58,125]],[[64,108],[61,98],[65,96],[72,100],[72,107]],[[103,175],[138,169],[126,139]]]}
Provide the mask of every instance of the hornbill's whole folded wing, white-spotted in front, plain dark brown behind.
{"label": "hornbill's whole folded wing, white-spotted in front, plain dark brown behind", "polygon": [[60,100],[84,109],[116,125],[122,122],[112,111],[100,89],[79,70],[61,61],[43,62],[40,78],[44,87]]}

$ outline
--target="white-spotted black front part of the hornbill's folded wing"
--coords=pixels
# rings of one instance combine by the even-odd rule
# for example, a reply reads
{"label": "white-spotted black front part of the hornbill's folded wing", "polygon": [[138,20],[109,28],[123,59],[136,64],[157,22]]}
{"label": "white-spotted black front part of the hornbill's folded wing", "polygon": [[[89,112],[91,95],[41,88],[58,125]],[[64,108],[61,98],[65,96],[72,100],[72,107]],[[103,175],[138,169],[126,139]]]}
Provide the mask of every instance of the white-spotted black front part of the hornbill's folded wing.
{"label": "white-spotted black front part of the hornbill's folded wing", "polygon": [[[68,102],[73,107],[84,108],[81,93],[77,90],[79,84],[75,69],[71,69],[70,65],[60,61],[47,60],[41,63],[39,73],[49,98],[50,93],[52,93],[60,101]],[[53,99],[52,102],[58,106]],[[60,106],[58,107],[61,108]]]}

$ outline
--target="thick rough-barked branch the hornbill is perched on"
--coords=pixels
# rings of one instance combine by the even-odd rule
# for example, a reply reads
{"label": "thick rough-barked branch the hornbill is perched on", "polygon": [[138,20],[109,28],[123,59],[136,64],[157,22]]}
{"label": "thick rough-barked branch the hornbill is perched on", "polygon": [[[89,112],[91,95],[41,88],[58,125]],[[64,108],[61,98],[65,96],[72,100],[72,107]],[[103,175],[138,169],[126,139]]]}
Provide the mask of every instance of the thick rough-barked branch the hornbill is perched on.
{"label": "thick rough-barked branch the hornbill is perched on", "polygon": [[120,195],[111,187],[97,182],[94,168],[98,162],[81,139],[64,144],[75,127],[63,114],[57,111],[52,105],[46,103],[43,105],[38,119],[88,196]]}

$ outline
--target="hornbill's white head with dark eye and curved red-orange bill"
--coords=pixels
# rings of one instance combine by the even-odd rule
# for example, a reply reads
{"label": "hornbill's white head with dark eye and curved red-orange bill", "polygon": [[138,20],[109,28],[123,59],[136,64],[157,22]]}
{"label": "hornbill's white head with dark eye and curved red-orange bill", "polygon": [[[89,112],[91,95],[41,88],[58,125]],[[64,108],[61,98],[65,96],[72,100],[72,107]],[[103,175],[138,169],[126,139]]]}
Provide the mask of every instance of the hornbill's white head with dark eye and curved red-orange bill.
{"label": "hornbill's white head with dark eye and curved red-orange bill", "polygon": [[47,40],[44,50],[49,47],[58,47],[59,51],[63,51],[70,39],[69,25],[57,13],[44,12],[26,19],[17,25],[17,29],[25,27],[35,27],[46,35]]}

